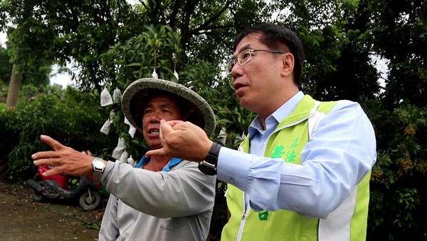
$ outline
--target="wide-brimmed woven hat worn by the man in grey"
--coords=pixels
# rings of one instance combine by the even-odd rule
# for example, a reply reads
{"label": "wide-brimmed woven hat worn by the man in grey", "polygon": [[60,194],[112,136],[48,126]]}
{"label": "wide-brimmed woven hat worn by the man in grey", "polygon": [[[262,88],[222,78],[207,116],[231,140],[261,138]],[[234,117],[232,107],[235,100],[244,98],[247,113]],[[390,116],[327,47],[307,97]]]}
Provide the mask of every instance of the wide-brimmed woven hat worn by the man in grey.
{"label": "wide-brimmed woven hat worn by the man in grey", "polygon": [[[172,93],[185,101],[179,102],[179,108],[189,111],[186,121],[199,125],[206,134],[211,135],[216,127],[216,118],[211,106],[204,98],[179,83],[165,81],[159,78],[140,78],[127,86],[122,95],[122,110],[127,120],[142,133],[142,111],[154,96],[159,93]],[[182,106],[186,105],[186,106]]]}

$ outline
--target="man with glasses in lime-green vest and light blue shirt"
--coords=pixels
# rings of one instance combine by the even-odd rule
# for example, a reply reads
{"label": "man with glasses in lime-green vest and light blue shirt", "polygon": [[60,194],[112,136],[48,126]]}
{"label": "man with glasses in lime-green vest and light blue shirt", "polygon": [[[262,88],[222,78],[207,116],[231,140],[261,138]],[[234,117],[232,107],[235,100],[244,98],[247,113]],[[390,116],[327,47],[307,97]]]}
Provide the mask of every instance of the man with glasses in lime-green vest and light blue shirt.
{"label": "man with glasses in lime-green vest and light blue shirt", "polygon": [[161,123],[163,148],[228,183],[227,240],[365,240],[374,128],[358,103],[299,90],[302,43],[260,24],[236,36],[226,71],[243,108],[258,114],[239,150],[182,121]]}

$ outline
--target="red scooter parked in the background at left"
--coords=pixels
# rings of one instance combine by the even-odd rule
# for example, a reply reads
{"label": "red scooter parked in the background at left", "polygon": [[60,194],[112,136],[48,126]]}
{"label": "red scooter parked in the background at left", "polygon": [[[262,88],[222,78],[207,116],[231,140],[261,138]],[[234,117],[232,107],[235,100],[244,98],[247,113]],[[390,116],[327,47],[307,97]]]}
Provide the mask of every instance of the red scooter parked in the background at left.
{"label": "red scooter parked in the background at left", "polygon": [[93,210],[102,200],[105,190],[101,185],[93,184],[93,176],[88,175],[77,178],[69,175],[53,175],[45,177],[42,173],[49,170],[48,166],[38,167],[38,172],[32,179],[27,181],[29,188],[33,190],[33,199],[42,202],[49,199],[71,199],[78,200],[78,205],[84,210]]}

